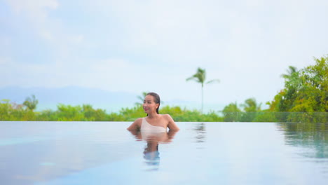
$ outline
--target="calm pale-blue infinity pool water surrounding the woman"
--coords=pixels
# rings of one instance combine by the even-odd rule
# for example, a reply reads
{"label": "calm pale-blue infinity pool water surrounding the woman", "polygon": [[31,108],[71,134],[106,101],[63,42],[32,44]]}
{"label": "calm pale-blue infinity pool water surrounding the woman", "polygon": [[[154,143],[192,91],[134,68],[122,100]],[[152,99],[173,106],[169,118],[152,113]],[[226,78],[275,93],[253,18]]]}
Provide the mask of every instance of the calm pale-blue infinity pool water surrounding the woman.
{"label": "calm pale-blue infinity pool water surrounding the woman", "polygon": [[[0,122],[0,184],[326,184],[328,123]],[[171,137],[171,135],[169,135]]]}

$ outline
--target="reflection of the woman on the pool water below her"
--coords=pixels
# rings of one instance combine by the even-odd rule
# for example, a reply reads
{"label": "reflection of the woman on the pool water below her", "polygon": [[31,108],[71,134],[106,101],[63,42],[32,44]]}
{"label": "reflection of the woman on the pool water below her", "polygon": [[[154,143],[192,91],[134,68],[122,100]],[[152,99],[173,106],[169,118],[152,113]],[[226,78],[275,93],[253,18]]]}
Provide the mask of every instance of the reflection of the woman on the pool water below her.
{"label": "reflection of the woman on the pool water below her", "polygon": [[172,142],[177,131],[170,130],[169,132],[140,132],[130,131],[132,135],[135,135],[137,141],[146,142],[144,147],[144,159],[146,165],[149,165],[147,171],[156,171],[160,165],[160,152],[158,146],[160,144],[168,144]]}

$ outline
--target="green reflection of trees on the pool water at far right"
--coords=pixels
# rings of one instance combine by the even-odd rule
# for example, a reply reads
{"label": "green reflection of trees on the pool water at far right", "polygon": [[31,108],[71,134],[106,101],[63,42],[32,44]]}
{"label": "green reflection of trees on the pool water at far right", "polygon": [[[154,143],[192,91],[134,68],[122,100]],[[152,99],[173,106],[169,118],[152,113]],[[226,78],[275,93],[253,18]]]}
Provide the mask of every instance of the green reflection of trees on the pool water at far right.
{"label": "green reflection of trees on the pool water at far right", "polygon": [[328,123],[277,123],[285,143],[301,149],[307,158],[328,158]]}

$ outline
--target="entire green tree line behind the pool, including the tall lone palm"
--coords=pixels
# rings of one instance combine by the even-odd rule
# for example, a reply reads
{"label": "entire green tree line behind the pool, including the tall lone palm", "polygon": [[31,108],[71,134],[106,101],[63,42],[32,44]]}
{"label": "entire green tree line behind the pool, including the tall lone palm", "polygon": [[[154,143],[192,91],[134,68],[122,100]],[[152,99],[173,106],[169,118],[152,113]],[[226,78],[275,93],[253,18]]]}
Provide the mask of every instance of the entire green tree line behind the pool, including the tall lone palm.
{"label": "entire green tree line behind the pool, including the tall lone palm", "polygon": [[[242,104],[231,102],[222,111],[189,110],[182,107],[165,106],[160,114],[170,114],[175,121],[211,122],[328,122],[328,57],[315,58],[315,64],[303,69],[289,67],[287,74],[282,74],[285,86],[266,102],[268,109],[261,110],[261,104],[255,98],[249,98]],[[202,85],[205,83],[205,69],[198,68],[196,74],[187,78]],[[209,81],[219,81],[218,79]],[[145,93],[143,93],[144,96]],[[202,93],[203,97],[203,93]],[[138,97],[143,100],[143,97]],[[203,98],[202,98],[203,100]],[[144,117],[142,104],[122,108],[118,113],[107,113],[104,109],[95,109],[90,104],[71,106],[58,104],[57,110],[34,111],[36,97],[27,97],[22,104],[1,100],[0,121],[134,121]],[[203,102],[202,102],[203,107]]]}

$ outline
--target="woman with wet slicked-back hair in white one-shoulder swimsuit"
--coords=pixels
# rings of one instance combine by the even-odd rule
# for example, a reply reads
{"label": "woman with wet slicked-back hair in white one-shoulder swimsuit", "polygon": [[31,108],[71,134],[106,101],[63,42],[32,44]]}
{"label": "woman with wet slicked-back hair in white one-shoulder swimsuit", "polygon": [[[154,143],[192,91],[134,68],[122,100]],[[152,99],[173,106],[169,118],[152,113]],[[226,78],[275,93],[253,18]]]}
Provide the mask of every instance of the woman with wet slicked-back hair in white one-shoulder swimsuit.
{"label": "woman with wet slicked-back hair in white one-shoulder swimsuit", "polygon": [[158,108],[160,107],[160,97],[158,94],[148,93],[144,97],[142,107],[147,116],[145,118],[137,118],[128,128],[130,132],[139,130],[141,132],[166,132],[168,128],[170,131],[179,130],[169,114],[158,113]]}

